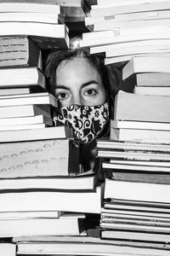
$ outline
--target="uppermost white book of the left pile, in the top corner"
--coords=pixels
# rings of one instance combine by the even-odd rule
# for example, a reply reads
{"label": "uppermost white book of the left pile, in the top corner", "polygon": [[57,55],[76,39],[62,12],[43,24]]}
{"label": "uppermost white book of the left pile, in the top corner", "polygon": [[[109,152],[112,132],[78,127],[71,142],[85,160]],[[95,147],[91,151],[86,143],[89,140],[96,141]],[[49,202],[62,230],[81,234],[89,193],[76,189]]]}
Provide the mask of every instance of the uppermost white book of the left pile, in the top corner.
{"label": "uppermost white book of the left pile, in the top corner", "polygon": [[48,3],[0,3],[1,13],[13,13],[13,12],[31,12],[31,13],[43,13],[59,15],[60,6],[58,4]]}

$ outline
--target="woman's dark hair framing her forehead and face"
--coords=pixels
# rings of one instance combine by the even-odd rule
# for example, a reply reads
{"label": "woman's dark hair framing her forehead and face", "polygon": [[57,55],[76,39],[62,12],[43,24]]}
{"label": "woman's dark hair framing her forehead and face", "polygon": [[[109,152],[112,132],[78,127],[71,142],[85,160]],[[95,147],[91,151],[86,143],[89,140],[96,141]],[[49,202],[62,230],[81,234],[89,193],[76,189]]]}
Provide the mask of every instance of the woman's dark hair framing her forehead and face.
{"label": "woman's dark hair framing her forehead and face", "polygon": [[85,58],[99,72],[102,83],[105,87],[106,97],[110,102],[110,114],[113,117],[114,99],[116,96],[118,75],[116,69],[111,66],[105,66],[104,61],[97,55],[89,55],[84,49],[61,49],[48,55],[46,63],[46,76],[48,79],[48,90],[54,94],[56,69],[59,63],[74,58]]}

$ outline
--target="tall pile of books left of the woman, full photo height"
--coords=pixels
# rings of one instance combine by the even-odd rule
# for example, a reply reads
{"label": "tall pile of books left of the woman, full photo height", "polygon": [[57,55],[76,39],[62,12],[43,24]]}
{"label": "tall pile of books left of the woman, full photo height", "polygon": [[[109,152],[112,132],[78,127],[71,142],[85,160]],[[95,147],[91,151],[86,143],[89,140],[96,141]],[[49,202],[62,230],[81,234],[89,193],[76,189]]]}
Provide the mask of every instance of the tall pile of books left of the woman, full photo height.
{"label": "tall pile of books left of the woman, full photo height", "polygon": [[86,215],[99,216],[101,208],[104,185],[93,170],[82,172],[79,143],[71,129],[54,127],[58,102],[48,92],[42,53],[67,49],[69,38],[59,21],[59,5],[45,2],[0,3],[3,256],[20,254],[16,241],[29,236],[35,241],[39,236],[44,241],[87,236]]}

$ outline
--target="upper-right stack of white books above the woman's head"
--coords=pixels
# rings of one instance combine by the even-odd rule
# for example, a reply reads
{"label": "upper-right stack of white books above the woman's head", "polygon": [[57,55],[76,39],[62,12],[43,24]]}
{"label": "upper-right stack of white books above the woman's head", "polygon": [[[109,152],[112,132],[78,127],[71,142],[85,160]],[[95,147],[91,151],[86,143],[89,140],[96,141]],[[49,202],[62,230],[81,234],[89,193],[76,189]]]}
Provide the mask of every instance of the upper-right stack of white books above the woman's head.
{"label": "upper-right stack of white books above the woman's head", "polygon": [[169,55],[169,1],[104,1],[92,5],[85,19],[91,32],[82,47],[105,53],[105,64],[129,61],[134,55]]}

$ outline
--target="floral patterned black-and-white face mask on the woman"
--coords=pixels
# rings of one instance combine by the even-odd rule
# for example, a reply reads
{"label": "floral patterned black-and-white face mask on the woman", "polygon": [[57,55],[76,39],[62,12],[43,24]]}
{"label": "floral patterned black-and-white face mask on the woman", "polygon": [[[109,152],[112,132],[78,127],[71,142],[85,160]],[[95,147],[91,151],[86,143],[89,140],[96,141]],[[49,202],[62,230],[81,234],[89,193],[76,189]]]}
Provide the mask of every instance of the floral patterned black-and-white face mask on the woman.
{"label": "floral patterned black-and-white face mask on the woman", "polygon": [[103,131],[108,119],[109,103],[106,102],[92,107],[71,105],[60,108],[54,122],[59,121],[65,126],[73,128],[75,137],[82,143],[89,143]]}

